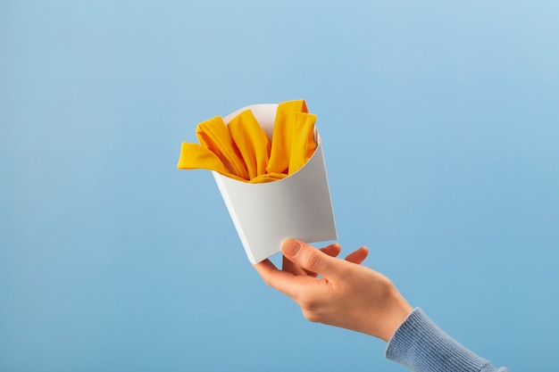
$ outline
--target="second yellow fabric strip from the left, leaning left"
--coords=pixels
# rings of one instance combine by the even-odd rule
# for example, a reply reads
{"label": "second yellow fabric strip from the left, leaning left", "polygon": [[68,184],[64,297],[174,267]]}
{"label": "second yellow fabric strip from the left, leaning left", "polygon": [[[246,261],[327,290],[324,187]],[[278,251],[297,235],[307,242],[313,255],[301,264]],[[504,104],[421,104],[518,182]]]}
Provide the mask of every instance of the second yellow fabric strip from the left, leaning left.
{"label": "second yellow fabric strip from the left, leaning left", "polygon": [[196,136],[198,141],[200,141],[200,145],[215,153],[225,167],[230,168],[231,173],[245,180],[250,179],[246,171],[245,162],[221,117],[216,116],[213,119],[202,121],[198,124]]}

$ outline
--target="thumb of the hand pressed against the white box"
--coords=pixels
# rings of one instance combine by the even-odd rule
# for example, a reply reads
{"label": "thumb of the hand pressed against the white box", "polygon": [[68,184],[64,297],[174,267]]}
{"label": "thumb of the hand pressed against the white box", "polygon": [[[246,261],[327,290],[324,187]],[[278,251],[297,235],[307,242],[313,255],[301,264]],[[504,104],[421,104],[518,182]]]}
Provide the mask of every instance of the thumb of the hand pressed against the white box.
{"label": "thumb of the hand pressed against the white box", "polygon": [[300,240],[289,239],[281,245],[281,251],[288,260],[301,268],[320,275],[335,274],[338,268],[338,260],[330,257],[321,250]]}

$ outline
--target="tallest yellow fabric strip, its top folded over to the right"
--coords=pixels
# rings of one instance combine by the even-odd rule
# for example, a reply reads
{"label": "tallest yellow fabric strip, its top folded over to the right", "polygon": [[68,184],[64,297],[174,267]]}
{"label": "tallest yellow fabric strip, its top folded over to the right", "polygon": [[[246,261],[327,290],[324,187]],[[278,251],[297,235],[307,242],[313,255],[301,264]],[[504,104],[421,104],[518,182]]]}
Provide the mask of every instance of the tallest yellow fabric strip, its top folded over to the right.
{"label": "tallest yellow fabric strip, its top folded over to the right", "polygon": [[271,136],[270,161],[266,168],[268,173],[288,174],[296,112],[308,112],[305,100],[288,101],[278,104]]}

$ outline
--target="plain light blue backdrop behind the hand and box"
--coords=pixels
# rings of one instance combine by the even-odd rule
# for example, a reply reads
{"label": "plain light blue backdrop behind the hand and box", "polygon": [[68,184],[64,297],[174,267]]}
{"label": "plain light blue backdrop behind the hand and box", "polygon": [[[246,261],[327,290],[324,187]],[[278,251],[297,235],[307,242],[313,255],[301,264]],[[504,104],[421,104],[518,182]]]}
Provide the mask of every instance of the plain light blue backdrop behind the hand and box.
{"label": "plain light blue backdrop behind the hand and box", "polygon": [[[339,242],[496,365],[556,368],[559,3],[0,3],[0,370],[403,371],[246,260],[199,121],[305,98]],[[534,368],[533,366],[536,366]]]}

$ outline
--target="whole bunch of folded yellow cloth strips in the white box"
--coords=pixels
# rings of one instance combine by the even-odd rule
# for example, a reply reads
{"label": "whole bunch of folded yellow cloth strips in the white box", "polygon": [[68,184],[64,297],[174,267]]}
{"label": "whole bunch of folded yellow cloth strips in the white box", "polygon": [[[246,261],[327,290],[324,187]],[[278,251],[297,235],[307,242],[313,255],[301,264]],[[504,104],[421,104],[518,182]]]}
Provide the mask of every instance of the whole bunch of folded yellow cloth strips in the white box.
{"label": "whole bunch of folded yellow cloth strips in the white box", "polygon": [[280,103],[270,140],[250,110],[228,125],[216,116],[198,124],[199,145],[182,143],[177,168],[210,169],[250,183],[286,178],[313,156],[315,121],[305,100]]}

